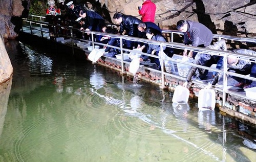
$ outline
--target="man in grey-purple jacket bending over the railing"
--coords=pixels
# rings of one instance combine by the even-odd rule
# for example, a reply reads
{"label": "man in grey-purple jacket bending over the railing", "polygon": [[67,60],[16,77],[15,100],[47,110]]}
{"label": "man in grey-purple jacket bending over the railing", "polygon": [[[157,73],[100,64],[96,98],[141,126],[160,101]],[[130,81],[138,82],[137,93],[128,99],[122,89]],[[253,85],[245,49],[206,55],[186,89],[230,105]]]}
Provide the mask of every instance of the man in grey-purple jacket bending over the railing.
{"label": "man in grey-purple jacket bending over the railing", "polygon": [[[212,41],[212,32],[203,24],[190,20],[177,22],[177,29],[184,33],[184,44],[192,44],[194,47],[207,47]],[[183,55],[195,58],[196,52],[184,50]]]}

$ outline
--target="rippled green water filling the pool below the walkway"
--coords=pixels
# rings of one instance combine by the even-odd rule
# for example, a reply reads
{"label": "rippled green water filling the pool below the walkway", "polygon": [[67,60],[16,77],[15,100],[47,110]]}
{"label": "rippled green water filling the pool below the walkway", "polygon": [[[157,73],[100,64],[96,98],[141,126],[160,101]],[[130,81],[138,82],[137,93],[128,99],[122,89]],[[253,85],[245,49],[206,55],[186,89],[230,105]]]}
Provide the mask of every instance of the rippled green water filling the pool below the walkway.
{"label": "rippled green water filling the pool below the walkway", "polygon": [[13,42],[0,161],[253,161],[255,127],[172,92]]}

